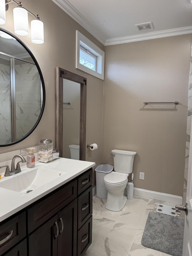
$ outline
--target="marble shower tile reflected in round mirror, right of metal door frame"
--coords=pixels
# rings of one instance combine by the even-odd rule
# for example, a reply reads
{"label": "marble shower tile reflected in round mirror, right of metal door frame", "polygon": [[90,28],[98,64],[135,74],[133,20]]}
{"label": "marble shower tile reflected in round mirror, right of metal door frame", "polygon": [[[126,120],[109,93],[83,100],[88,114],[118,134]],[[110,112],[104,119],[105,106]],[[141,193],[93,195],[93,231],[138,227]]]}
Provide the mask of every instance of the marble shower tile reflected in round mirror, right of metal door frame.
{"label": "marble shower tile reflected in round mirror, right of metal door frame", "polygon": [[[19,62],[19,64],[16,64]],[[34,64],[15,60],[16,138],[35,125],[41,112],[41,80]]]}

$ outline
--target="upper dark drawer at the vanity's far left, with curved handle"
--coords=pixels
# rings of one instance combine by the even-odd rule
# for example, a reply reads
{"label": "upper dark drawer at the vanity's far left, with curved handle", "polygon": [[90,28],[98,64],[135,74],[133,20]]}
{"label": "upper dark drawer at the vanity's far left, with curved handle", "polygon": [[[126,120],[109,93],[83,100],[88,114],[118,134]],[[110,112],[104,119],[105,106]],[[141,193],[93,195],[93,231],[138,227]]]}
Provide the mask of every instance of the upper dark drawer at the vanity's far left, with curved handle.
{"label": "upper dark drawer at the vanity's far left, with curved handle", "polygon": [[0,255],[26,236],[26,212],[0,224]]}

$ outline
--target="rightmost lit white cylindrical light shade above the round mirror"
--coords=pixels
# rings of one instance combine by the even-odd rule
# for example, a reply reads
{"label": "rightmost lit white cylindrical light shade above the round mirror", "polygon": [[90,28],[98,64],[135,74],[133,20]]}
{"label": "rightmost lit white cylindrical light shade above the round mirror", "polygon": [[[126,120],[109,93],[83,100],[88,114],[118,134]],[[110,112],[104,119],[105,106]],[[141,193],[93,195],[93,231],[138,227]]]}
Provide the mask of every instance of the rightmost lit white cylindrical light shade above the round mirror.
{"label": "rightmost lit white cylindrical light shade above the round mirror", "polygon": [[31,41],[34,44],[44,43],[44,29],[41,20],[37,19],[31,21]]}

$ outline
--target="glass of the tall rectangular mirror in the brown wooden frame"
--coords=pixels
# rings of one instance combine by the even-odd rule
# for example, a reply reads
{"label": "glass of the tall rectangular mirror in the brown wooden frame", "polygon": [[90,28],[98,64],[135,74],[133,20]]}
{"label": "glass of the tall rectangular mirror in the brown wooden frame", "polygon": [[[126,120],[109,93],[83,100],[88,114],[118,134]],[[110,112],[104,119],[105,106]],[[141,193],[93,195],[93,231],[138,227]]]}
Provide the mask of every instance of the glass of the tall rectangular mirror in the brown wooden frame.
{"label": "glass of the tall rectangular mirror in the brown wooden frame", "polygon": [[80,83],[63,79],[63,157],[76,160],[79,160],[80,88]]}

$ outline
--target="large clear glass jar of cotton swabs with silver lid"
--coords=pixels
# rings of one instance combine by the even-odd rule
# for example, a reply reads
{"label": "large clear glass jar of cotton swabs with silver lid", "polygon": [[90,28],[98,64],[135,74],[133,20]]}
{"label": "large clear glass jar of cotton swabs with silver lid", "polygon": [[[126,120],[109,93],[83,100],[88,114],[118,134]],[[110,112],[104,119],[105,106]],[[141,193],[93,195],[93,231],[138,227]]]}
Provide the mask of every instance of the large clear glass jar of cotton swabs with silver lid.
{"label": "large clear glass jar of cotton swabs with silver lid", "polygon": [[39,143],[39,162],[47,163],[53,160],[53,143],[50,139],[40,140]]}

